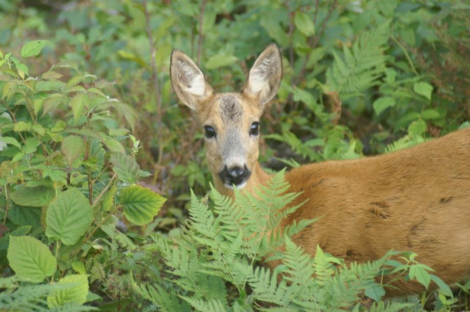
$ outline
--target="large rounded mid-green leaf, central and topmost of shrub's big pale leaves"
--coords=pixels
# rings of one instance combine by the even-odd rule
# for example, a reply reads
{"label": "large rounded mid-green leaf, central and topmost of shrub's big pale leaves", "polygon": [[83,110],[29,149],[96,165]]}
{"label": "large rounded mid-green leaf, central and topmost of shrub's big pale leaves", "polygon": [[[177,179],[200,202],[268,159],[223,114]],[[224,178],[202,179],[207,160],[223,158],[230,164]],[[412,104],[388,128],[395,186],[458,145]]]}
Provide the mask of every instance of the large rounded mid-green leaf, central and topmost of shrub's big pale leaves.
{"label": "large rounded mid-green leaf, central and topmost of shrub's big pale leaves", "polygon": [[46,215],[46,235],[73,245],[93,222],[93,209],[85,195],[75,188],[59,194],[49,205]]}

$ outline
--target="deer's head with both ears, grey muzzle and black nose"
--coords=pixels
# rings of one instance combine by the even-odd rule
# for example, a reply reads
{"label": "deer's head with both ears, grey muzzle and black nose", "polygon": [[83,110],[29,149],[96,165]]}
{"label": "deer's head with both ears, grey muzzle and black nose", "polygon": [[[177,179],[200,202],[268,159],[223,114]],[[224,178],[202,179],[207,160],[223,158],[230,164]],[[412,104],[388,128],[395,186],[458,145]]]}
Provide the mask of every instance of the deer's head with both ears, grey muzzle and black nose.
{"label": "deer's head with both ears, grey muzzle and black nose", "polygon": [[278,47],[268,46],[256,59],[240,93],[215,93],[180,50],[171,54],[170,76],[177,96],[196,112],[205,132],[206,158],[217,189],[253,184],[252,173],[260,170],[259,118],[282,79]]}

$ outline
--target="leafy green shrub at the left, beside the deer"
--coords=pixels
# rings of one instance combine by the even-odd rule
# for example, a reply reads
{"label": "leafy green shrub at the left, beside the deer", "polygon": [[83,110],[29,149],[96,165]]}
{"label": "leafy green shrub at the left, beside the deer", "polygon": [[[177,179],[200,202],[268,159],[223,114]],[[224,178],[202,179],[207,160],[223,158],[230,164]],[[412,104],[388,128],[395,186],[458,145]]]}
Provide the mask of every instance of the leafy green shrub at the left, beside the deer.
{"label": "leafy green shrub at the left, beside the deer", "polygon": [[[108,82],[73,62],[29,74],[23,59],[47,43],[26,44],[22,58],[0,52],[0,262],[16,277],[2,280],[0,309],[85,311],[81,304],[101,299],[89,278],[109,265],[116,238],[127,239],[117,220],[147,224],[165,199],[136,184],[148,175],[135,162],[138,141],[109,112],[131,128],[135,113],[103,93]],[[73,74],[66,81],[63,69]]]}

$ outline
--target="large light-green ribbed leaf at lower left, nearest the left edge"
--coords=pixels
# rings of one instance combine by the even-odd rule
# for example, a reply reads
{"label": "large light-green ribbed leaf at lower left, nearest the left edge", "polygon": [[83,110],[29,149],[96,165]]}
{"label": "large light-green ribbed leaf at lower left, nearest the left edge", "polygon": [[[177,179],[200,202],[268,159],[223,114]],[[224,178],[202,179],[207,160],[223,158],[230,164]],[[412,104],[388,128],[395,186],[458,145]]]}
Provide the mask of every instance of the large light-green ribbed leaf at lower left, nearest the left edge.
{"label": "large light-green ribbed leaf at lower left, nearest the left edge", "polygon": [[57,267],[49,248],[30,236],[10,236],[7,258],[16,276],[32,283],[44,281]]}

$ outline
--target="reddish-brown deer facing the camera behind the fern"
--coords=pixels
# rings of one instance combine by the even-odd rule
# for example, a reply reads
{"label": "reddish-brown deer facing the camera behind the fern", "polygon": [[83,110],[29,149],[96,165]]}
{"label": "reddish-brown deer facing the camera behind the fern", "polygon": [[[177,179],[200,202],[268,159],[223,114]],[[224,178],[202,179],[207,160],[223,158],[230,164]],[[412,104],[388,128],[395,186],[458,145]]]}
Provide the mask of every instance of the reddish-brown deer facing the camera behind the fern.
{"label": "reddish-brown deer facing the camera behind the fern", "polygon": [[[216,93],[189,56],[173,50],[171,84],[205,134],[206,159],[218,192],[254,192],[270,180],[258,162],[260,117],[282,79],[281,52],[258,56],[241,92]],[[470,128],[415,147],[355,160],[304,164],[285,173],[303,204],[280,226],[319,218],[292,240],[314,255],[319,245],[364,263],[394,249],[413,251],[444,282],[470,276]],[[267,263],[271,268],[274,264]],[[424,289],[396,281],[387,297]],[[434,285],[436,287],[436,285]]]}

